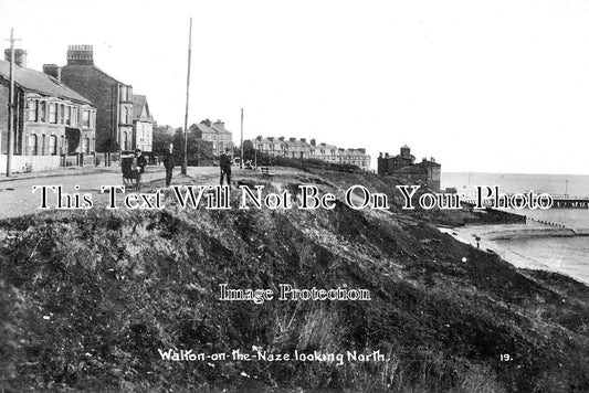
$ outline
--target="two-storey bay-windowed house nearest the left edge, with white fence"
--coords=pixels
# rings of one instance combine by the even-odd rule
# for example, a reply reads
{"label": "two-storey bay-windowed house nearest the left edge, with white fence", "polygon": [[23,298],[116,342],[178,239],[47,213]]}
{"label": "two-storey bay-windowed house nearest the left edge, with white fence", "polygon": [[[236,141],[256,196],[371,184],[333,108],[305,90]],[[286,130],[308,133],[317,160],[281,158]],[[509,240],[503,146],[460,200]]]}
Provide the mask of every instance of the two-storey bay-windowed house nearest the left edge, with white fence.
{"label": "two-storey bay-windowed house nearest the left edge, with white fence", "polygon": [[[10,50],[0,61],[0,153],[8,152]],[[27,52],[14,51],[14,139],[12,170],[39,171],[93,164],[96,108],[59,79],[27,67]],[[66,156],[70,160],[66,160]],[[84,157],[85,156],[85,157]],[[6,156],[0,158],[6,171]]]}

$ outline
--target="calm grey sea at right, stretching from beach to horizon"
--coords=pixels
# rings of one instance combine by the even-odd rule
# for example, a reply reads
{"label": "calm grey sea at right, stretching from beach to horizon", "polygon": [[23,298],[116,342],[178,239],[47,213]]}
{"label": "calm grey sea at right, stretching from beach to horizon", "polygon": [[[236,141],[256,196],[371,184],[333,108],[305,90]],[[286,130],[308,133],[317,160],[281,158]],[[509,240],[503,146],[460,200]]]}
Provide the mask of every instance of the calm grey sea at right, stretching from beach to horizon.
{"label": "calm grey sea at right, stretching from beach to horizon", "polygon": [[[547,192],[553,195],[589,198],[589,176],[444,172],[442,189],[455,188],[473,193],[477,185],[498,185],[504,193]],[[514,210],[537,221],[589,230],[589,209]],[[501,247],[534,259],[547,269],[557,270],[589,285],[589,236],[516,238],[496,242]]]}

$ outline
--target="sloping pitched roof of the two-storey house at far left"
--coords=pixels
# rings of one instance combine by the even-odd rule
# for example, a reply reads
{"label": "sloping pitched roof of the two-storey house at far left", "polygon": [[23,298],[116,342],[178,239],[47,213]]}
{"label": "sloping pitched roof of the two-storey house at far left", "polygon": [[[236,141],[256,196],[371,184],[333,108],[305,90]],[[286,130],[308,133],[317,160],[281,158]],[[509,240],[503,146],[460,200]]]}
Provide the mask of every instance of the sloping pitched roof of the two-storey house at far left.
{"label": "sloping pitched roof of the two-storey house at far left", "polygon": [[[10,63],[0,60],[0,77],[10,78]],[[54,77],[31,68],[14,65],[14,83],[22,88],[48,96],[62,97],[92,104],[90,99],[77,94]]]}

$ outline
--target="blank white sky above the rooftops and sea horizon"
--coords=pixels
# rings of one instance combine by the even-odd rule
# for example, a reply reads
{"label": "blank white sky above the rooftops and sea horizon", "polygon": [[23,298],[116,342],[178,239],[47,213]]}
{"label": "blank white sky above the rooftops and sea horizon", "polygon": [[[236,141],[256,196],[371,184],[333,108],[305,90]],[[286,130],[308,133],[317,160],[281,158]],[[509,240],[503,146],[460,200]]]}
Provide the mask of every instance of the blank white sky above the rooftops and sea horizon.
{"label": "blank white sky above the rooftops and sea horizon", "polygon": [[[0,0],[29,66],[67,45],[145,94],[160,125],[379,151],[443,171],[589,173],[589,2]],[[4,47],[8,42],[4,41]]]}

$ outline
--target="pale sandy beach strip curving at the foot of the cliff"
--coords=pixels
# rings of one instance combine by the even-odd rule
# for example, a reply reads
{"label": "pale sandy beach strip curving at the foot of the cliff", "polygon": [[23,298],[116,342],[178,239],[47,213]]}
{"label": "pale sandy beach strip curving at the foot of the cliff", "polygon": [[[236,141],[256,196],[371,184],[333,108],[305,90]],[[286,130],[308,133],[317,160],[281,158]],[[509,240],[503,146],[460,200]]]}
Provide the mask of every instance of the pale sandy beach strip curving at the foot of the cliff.
{"label": "pale sandy beach strip curving at the foot of the cliff", "polygon": [[483,252],[498,255],[516,268],[554,272],[589,286],[589,280],[571,275],[556,266],[547,265],[533,257],[517,253],[498,244],[497,241],[544,238],[544,237],[578,237],[588,236],[589,230],[558,229],[538,223],[532,224],[494,224],[466,225],[461,227],[439,227],[439,231],[451,235],[456,241],[478,247]]}

